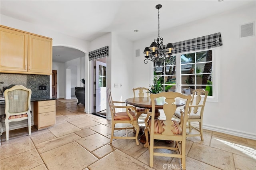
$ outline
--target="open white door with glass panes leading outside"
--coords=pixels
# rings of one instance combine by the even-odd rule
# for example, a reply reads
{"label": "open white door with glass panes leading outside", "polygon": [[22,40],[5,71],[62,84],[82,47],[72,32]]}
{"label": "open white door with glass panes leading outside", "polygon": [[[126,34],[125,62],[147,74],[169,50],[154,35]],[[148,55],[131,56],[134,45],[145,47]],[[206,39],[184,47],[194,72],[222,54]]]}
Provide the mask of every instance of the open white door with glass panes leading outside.
{"label": "open white door with glass panes leading outside", "polygon": [[96,61],[96,113],[106,110],[106,63]]}

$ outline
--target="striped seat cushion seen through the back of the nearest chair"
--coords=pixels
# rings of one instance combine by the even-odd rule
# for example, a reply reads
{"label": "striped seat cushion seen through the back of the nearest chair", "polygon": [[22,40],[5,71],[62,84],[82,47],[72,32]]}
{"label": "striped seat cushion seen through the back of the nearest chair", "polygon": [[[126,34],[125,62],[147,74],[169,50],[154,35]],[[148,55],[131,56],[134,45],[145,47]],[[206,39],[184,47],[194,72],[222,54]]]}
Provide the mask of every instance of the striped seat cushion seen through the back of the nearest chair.
{"label": "striped seat cushion seen through the back of the nearest chair", "polygon": [[[173,124],[173,127],[172,128],[172,133],[173,134],[181,134],[181,131],[182,131],[182,128],[180,127],[180,124],[178,121],[172,121],[174,124]],[[164,122],[163,120],[158,120],[158,119],[155,119],[155,122],[154,122],[154,133],[162,133],[164,131]],[[148,126],[151,128],[151,120],[148,121]]]}

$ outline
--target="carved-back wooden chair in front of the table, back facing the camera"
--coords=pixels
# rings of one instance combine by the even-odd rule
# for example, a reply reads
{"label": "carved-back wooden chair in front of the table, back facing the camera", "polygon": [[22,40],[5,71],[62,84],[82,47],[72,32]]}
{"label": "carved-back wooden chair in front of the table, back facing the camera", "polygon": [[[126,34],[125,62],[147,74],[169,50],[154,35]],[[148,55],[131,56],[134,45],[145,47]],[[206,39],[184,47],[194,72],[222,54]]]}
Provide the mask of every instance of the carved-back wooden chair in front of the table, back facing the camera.
{"label": "carved-back wooden chair in front of the table, back facing the camera", "polygon": [[[154,100],[164,97],[165,104],[163,105],[163,111],[166,119],[155,119],[155,102]],[[182,119],[180,122],[173,121],[172,116],[176,111],[175,99],[179,98],[186,102],[184,111],[182,111]],[[186,169],[185,162],[185,146],[186,146],[186,120],[188,117],[188,105],[191,100],[191,95],[183,95],[177,92],[162,92],[158,94],[150,94],[152,103],[152,112],[147,109],[147,117],[145,119],[145,135],[146,144],[144,147],[148,147],[150,160],[149,166],[153,168],[154,156],[166,156],[181,158],[181,165],[183,169]],[[154,121],[152,121],[154,120]],[[150,141],[148,132],[150,133]],[[154,141],[155,140],[155,141]],[[166,144],[166,142],[157,142],[156,140],[172,140],[175,141],[174,145]],[[174,150],[175,153],[168,150]]]}

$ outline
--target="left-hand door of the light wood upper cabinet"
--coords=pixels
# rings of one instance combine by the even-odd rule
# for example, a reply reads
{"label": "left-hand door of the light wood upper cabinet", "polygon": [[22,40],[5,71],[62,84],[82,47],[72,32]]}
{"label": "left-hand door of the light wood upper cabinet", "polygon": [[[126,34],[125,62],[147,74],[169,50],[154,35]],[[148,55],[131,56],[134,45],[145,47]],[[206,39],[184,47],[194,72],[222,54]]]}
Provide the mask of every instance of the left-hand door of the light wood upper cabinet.
{"label": "left-hand door of the light wood upper cabinet", "polygon": [[0,71],[27,71],[28,34],[0,27]]}

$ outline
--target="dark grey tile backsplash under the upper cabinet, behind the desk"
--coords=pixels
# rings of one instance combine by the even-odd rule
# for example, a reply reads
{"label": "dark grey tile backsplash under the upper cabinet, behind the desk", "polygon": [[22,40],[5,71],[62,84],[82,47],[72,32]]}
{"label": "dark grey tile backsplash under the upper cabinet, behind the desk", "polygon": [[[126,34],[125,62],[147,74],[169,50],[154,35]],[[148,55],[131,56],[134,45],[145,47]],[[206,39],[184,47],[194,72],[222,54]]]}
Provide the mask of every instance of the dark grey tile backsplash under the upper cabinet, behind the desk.
{"label": "dark grey tile backsplash under the upper cabinet, behind the desk", "polygon": [[[0,73],[0,95],[10,85],[23,85],[31,89],[32,98],[50,96],[50,75]],[[39,86],[46,86],[46,90],[39,90]]]}

